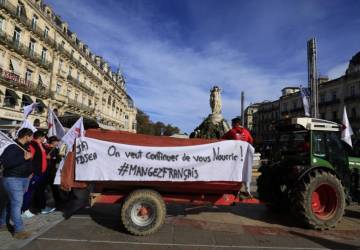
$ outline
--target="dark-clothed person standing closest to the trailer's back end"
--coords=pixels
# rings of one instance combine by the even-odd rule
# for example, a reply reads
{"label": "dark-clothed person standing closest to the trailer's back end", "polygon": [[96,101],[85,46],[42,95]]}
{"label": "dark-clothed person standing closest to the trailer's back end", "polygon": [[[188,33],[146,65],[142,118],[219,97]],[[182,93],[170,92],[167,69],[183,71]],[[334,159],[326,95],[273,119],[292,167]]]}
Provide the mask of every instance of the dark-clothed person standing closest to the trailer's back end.
{"label": "dark-clothed person standing closest to the trailer's back end", "polygon": [[54,185],[54,180],[57,172],[57,164],[61,161],[61,156],[59,154],[59,145],[60,140],[56,136],[51,136],[47,140],[47,159],[48,159],[48,168],[47,168],[47,184],[51,188],[52,197],[55,202],[56,208],[61,208],[61,196],[59,191],[59,186]]}

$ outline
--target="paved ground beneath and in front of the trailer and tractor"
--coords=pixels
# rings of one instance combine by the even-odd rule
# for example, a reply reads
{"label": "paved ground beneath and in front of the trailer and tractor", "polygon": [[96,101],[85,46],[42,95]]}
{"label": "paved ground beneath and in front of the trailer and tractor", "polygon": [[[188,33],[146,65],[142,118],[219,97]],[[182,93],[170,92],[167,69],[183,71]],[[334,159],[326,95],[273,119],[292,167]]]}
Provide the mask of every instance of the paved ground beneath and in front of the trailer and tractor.
{"label": "paved ground beneath and in front of the trailer and tractor", "polygon": [[302,229],[263,205],[168,206],[161,230],[136,237],[120,226],[118,205],[96,205],[62,221],[23,249],[360,249],[360,209],[347,210],[335,230]]}

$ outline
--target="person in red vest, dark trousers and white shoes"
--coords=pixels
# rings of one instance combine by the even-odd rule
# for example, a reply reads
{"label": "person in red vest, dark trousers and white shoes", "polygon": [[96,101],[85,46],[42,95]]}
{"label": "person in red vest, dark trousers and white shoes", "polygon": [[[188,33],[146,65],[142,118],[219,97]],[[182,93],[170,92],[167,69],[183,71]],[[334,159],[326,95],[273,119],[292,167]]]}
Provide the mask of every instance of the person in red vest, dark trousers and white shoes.
{"label": "person in red vest, dark trousers and white shoes", "polygon": [[45,134],[42,131],[34,133],[34,139],[31,141],[29,149],[33,156],[33,177],[30,181],[28,192],[24,196],[23,211],[26,217],[32,217],[33,214],[29,208],[33,205],[36,212],[43,214],[53,212],[54,208],[46,207],[45,189],[47,185],[47,155],[43,145]]}

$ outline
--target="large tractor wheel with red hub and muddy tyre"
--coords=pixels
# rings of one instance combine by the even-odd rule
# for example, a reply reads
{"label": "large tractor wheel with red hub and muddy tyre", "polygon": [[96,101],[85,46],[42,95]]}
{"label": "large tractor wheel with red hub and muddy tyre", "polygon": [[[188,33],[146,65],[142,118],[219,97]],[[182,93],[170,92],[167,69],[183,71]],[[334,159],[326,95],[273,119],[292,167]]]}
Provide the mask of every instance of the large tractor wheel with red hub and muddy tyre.
{"label": "large tractor wheel with red hub and muddy tyre", "polygon": [[310,173],[292,194],[293,214],[310,228],[326,230],[341,221],[345,193],[340,180],[325,171]]}

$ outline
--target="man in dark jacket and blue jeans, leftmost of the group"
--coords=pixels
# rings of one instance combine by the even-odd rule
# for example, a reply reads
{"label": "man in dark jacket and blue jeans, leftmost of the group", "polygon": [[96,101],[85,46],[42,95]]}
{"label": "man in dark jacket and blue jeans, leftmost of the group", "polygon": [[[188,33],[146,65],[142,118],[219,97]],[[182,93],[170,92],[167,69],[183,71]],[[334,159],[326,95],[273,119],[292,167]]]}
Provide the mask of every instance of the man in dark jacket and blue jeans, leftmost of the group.
{"label": "man in dark jacket and blue jeans, leftmost of the group", "polygon": [[24,230],[21,219],[21,206],[23,196],[29,186],[29,179],[32,174],[32,155],[27,151],[27,144],[32,140],[31,129],[23,128],[18,133],[16,144],[9,145],[1,155],[4,167],[2,184],[9,197],[9,209],[3,209],[0,217],[0,228],[6,226],[7,211],[10,211],[10,218],[14,223],[14,237],[26,239],[30,233]]}

